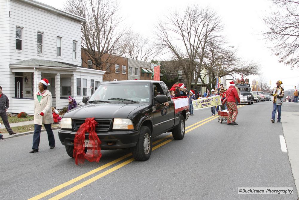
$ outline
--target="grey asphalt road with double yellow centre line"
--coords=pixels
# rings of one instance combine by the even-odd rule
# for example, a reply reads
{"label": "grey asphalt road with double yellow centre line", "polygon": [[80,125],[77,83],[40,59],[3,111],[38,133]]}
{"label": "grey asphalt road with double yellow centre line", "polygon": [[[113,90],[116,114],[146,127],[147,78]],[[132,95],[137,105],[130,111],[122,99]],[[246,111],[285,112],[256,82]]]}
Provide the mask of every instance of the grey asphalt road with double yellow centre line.
{"label": "grey asphalt road with double yellow centre line", "polygon": [[[49,149],[43,132],[34,154],[33,135],[0,141],[0,199],[298,199],[288,153],[280,147],[282,125],[271,123],[271,110],[271,102],[242,106],[239,126],[220,124],[210,108],[197,110],[184,139],[155,138],[159,146],[145,162],[116,160],[130,153],[117,150],[102,151],[99,163],[76,166],[58,130],[56,148]],[[294,194],[241,195],[238,187],[293,187]]]}

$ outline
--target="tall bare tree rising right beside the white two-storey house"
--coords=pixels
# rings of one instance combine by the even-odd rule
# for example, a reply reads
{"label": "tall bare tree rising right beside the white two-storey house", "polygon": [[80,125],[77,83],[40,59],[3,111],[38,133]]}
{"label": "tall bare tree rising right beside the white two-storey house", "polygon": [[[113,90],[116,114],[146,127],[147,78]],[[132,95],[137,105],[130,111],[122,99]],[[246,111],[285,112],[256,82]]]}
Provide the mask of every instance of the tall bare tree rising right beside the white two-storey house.
{"label": "tall bare tree rising right beside the white two-storey house", "polygon": [[86,18],[81,26],[81,46],[97,70],[109,71],[111,55],[126,34],[120,28],[118,4],[108,0],[67,0],[64,9]]}

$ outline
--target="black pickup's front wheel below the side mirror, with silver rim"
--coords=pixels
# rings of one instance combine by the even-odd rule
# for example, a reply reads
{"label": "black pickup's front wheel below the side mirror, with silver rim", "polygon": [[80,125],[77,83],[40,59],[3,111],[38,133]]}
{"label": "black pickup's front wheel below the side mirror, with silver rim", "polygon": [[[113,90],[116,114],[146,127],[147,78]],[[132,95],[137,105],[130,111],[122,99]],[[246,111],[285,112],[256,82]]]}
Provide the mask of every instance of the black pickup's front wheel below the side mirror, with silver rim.
{"label": "black pickup's front wheel below the side mirror, with silver rim", "polygon": [[152,133],[147,126],[141,126],[137,144],[132,148],[132,154],[135,160],[148,160],[152,153]]}

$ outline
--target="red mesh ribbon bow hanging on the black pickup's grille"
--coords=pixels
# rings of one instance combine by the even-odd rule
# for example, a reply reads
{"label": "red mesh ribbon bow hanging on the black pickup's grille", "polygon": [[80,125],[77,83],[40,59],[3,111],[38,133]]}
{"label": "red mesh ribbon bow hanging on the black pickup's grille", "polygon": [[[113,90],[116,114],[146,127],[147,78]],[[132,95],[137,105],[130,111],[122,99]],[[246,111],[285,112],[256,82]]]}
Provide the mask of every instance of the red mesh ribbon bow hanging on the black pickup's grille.
{"label": "red mesh ribbon bow hanging on the black pickup's grille", "polygon": [[[95,126],[97,122],[94,118],[86,118],[85,122],[80,126],[74,139],[74,152],[73,157],[75,158],[75,163],[83,164],[84,160],[89,162],[99,162],[102,157],[100,144],[101,141],[95,132]],[[89,133],[89,140],[92,147],[89,147],[85,153],[85,133]],[[97,141],[98,145],[95,145]]]}

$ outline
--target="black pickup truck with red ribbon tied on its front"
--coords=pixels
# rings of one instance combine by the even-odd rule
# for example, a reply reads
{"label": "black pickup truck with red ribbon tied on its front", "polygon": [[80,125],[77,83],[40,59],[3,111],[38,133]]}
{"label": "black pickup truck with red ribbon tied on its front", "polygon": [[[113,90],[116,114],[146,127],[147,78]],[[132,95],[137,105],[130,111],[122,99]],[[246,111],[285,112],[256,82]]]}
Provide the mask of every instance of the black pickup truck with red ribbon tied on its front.
{"label": "black pickup truck with red ribbon tied on its front", "polygon": [[[86,118],[98,122],[96,133],[102,150],[130,148],[135,160],[148,160],[152,138],[172,131],[174,139],[185,135],[189,111],[175,112],[169,90],[162,81],[132,80],[105,82],[85,105],[65,113],[59,139],[73,157],[75,133]],[[88,133],[85,138],[88,139]],[[88,142],[86,142],[86,150]]]}

